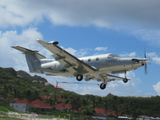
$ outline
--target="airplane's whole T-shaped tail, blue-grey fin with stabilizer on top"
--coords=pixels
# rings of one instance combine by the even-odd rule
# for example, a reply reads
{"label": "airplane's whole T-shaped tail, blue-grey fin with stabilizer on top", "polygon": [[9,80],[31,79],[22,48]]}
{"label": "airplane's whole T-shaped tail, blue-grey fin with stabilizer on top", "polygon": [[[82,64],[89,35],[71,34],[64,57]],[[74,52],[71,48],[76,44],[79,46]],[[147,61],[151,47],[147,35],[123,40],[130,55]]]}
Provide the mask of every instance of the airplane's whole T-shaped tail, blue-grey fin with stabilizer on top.
{"label": "airplane's whole T-shaped tail, blue-grey fin with stabilizer on top", "polygon": [[12,46],[12,48],[22,51],[25,54],[30,72],[42,73],[40,59],[45,58],[43,55],[39,54],[38,51],[29,50],[27,48],[20,47],[20,46]]}

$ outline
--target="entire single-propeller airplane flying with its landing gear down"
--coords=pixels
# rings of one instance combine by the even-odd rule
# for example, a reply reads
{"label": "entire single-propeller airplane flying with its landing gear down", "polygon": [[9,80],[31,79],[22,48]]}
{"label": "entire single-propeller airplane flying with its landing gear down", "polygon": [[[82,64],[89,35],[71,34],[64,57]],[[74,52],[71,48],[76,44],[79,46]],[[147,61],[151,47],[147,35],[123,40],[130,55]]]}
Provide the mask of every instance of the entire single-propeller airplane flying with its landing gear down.
{"label": "entire single-propeller airplane flying with its landing gear down", "polygon": [[[37,40],[41,45],[53,53],[55,59],[44,59],[38,53],[21,46],[12,46],[25,54],[30,72],[44,73],[53,76],[76,77],[78,81],[83,78],[86,81],[102,81],[101,89],[105,89],[110,81],[123,80],[128,82],[126,72],[146,66],[149,59],[145,58],[121,58],[115,54],[95,55],[77,58],[58,46],[57,41],[45,42]],[[124,73],[125,77],[118,77],[113,74]]]}

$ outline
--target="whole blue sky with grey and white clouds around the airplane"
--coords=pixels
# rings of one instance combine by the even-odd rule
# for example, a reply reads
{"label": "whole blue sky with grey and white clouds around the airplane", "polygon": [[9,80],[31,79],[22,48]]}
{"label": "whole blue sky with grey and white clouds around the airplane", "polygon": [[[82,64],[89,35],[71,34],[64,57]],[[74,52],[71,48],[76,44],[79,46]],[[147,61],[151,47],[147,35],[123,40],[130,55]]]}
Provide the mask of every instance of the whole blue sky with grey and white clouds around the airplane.
{"label": "whole blue sky with grey and white clouds around the airplane", "polygon": [[[79,94],[160,95],[159,6],[159,0],[0,0],[0,66],[29,72],[24,55],[13,50],[13,45],[52,58],[36,39],[59,41],[59,46],[76,57],[105,53],[143,57],[146,51],[151,59],[148,75],[143,67],[128,72],[131,80],[127,84],[110,82],[105,90],[92,84],[58,85]],[[42,76],[54,85],[54,79],[76,82],[74,78]]]}

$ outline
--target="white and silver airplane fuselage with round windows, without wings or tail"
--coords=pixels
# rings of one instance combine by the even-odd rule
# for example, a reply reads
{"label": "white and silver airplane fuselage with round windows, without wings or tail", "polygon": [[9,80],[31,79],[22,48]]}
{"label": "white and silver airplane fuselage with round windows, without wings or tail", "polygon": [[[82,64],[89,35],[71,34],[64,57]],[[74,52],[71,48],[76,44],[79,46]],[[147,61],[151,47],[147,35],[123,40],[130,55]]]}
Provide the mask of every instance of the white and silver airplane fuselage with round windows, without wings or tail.
{"label": "white and silver airplane fuselage with round windows, without wings or tail", "polygon": [[[97,71],[94,73],[89,74],[100,74],[100,73],[125,73],[126,71],[137,69],[143,64],[141,62],[134,62],[134,58],[121,58],[121,57],[108,57],[109,54],[104,55],[96,55],[96,56],[89,56],[79,58],[79,60],[83,61],[84,63],[96,68]],[[146,60],[145,58],[136,58],[140,61]],[[68,71],[64,66],[62,66],[56,60],[42,60],[43,64],[41,65],[41,70],[45,72],[49,72],[54,75],[62,75],[66,77],[75,77],[70,76]],[[48,62],[49,61],[49,62]],[[52,62],[50,62],[52,61]],[[46,63],[45,63],[46,62]],[[87,76],[88,73],[85,73],[84,76]]]}

